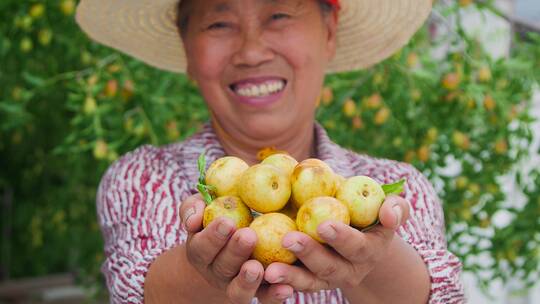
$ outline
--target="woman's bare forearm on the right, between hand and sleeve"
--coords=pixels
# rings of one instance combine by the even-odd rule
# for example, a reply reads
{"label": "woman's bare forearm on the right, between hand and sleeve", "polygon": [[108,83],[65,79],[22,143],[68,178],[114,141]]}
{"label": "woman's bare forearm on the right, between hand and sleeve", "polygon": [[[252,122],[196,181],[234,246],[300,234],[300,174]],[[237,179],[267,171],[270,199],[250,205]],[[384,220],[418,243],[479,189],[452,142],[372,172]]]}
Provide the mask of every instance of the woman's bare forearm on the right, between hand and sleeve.
{"label": "woman's bare forearm on the right, between hand and sleeve", "polygon": [[354,289],[342,289],[355,303],[427,303],[430,291],[427,267],[409,244],[395,235],[382,258]]}

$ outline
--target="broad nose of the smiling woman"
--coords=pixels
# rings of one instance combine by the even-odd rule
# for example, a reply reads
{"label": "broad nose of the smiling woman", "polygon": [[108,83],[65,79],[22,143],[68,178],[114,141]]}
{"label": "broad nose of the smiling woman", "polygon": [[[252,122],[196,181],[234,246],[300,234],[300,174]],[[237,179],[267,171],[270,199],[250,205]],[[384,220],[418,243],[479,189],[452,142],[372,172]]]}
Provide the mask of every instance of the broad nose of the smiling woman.
{"label": "broad nose of the smiling woman", "polygon": [[238,50],[233,56],[233,64],[244,67],[257,67],[274,58],[274,52],[263,40],[259,30],[241,35]]}

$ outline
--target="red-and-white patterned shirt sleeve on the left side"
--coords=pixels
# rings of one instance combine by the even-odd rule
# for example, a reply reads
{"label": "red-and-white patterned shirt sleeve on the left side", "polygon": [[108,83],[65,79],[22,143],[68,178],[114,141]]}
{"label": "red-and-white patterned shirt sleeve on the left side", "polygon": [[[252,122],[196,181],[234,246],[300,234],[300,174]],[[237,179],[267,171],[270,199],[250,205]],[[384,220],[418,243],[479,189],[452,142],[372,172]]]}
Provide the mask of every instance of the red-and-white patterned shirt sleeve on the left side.
{"label": "red-and-white patterned shirt sleeve on the left side", "polygon": [[185,242],[178,207],[185,191],[180,168],[151,146],[122,157],[103,176],[97,215],[105,241],[105,276],[111,303],[143,303],[150,264]]}

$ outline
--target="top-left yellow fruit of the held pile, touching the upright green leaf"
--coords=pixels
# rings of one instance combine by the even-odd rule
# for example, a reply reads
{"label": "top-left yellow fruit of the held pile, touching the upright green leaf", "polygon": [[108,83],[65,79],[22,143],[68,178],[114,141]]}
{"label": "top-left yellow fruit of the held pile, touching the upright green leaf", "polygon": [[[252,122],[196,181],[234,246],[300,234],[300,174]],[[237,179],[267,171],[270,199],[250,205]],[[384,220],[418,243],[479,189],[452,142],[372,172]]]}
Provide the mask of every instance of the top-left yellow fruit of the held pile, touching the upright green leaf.
{"label": "top-left yellow fruit of the held pile, touching the upright green leaf", "polygon": [[214,161],[206,170],[206,184],[215,188],[216,196],[238,196],[238,184],[249,165],[242,159],[226,156]]}

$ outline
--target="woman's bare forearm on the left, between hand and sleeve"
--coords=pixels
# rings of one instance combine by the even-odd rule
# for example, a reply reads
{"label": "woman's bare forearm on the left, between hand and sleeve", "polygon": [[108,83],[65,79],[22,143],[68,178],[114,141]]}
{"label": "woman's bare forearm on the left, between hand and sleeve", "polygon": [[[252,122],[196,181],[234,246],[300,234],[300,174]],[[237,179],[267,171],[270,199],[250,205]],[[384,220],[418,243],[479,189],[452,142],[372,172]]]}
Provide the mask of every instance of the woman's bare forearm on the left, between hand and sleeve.
{"label": "woman's bare forearm on the left, between hand and sleeve", "polygon": [[144,302],[225,303],[225,293],[210,286],[187,260],[180,245],[152,263],[144,284]]}

